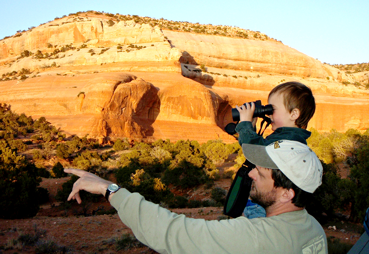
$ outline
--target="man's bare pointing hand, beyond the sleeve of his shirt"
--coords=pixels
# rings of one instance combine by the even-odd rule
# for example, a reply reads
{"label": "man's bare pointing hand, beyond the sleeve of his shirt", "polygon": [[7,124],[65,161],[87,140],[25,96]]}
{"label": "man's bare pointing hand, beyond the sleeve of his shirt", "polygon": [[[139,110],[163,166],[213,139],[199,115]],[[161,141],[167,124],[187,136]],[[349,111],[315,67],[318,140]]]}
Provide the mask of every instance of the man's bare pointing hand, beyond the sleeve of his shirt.
{"label": "man's bare pointing hand, beyond the sleeve of his shirt", "polygon": [[[106,189],[111,183],[113,183],[81,169],[65,168],[64,172],[68,174],[74,174],[80,177],[73,184],[72,192],[70,192],[68,197],[68,201],[71,199],[76,199],[79,204],[82,202],[79,196],[80,190],[86,190],[87,192],[93,194],[105,195]],[[109,196],[109,201],[113,196],[113,194],[114,193],[111,193],[111,195]]]}

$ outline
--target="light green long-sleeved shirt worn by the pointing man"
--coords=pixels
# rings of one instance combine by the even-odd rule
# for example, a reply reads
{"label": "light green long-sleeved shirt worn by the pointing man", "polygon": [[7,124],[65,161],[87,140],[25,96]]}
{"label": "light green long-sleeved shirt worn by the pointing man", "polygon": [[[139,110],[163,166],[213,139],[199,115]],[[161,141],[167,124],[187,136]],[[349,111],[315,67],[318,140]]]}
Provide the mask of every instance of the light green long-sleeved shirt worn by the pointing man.
{"label": "light green long-sleeved shirt worn by the pointing man", "polygon": [[328,254],[323,228],[306,210],[267,218],[187,218],[122,188],[111,198],[122,222],[159,253]]}

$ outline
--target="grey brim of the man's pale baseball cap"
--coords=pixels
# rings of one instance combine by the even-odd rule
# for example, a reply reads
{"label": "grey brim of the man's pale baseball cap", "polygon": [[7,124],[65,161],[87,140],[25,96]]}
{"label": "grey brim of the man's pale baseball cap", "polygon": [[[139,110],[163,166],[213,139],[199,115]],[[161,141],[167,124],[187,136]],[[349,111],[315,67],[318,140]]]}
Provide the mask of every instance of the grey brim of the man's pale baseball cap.
{"label": "grey brim of the man's pale baseball cap", "polygon": [[279,169],[265,148],[264,145],[242,144],[242,152],[249,162],[263,168]]}

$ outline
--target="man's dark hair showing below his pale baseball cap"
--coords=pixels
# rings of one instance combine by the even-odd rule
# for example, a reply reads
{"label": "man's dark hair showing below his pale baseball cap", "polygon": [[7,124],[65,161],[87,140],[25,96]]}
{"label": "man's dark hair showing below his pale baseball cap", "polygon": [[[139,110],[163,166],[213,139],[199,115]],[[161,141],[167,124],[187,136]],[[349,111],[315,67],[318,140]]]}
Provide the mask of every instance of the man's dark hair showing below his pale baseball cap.
{"label": "man's dark hair showing below his pale baseball cap", "polygon": [[295,196],[291,200],[297,207],[305,207],[308,200],[311,198],[312,193],[297,187],[290,179],[285,176],[279,169],[272,169],[272,179],[274,180],[274,187],[282,187],[284,189],[293,189]]}

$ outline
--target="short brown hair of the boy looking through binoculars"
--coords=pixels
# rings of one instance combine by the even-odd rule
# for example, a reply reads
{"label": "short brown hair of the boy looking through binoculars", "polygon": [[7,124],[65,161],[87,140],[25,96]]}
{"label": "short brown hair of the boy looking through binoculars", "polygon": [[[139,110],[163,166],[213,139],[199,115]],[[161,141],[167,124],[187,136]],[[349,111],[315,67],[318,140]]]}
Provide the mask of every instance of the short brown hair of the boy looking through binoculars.
{"label": "short brown hair of the boy looking through binoculars", "polygon": [[275,94],[281,93],[284,97],[284,106],[291,113],[294,109],[300,110],[300,116],[296,119],[297,127],[305,129],[315,113],[315,99],[310,87],[303,83],[291,81],[277,85],[274,87],[268,98]]}

